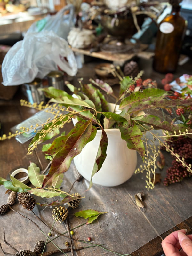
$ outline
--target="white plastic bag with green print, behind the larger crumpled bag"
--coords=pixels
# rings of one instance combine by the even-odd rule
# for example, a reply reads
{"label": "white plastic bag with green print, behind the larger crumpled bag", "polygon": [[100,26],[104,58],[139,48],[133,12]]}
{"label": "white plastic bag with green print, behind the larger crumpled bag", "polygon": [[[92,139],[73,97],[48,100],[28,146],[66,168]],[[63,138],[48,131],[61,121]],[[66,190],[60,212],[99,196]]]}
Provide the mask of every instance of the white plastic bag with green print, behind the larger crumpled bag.
{"label": "white plastic bag with green print, behind the larger crumpled bag", "polygon": [[[69,14],[64,15],[64,12],[69,10]],[[74,6],[69,4],[62,8],[55,15],[47,15],[45,18],[34,22],[27,33],[54,31],[55,34],[67,40],[70,29],[74,26]]]}

